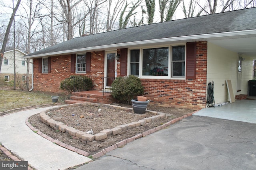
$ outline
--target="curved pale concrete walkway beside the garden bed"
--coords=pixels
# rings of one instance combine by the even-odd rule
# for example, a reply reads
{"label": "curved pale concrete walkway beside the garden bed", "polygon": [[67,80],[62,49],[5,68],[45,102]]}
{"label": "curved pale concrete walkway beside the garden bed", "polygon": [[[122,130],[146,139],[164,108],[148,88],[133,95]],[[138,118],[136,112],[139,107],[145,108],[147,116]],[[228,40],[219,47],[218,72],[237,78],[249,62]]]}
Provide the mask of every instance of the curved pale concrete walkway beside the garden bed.
{"label": "curved pale concrete walkway beside the garden bed", "polygon": [[26,119],[53,107],[30,109],[0,117],[0,142],[37,170],[64,170],[91,159],[62,148],[34,133]]}

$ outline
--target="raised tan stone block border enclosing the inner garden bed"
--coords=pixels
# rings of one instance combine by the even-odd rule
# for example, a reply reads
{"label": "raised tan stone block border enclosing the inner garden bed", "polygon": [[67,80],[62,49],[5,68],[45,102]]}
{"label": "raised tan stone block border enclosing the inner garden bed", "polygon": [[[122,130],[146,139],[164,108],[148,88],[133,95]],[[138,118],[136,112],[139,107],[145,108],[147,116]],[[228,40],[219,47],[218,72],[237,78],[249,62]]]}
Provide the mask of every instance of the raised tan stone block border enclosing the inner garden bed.
{"label": "raised tan stone block border enclosing the inner garden bed", "polygon": [[[76,105],[76,104],[74,104]],[[72,105],[72,106],[74,106]],[[79,104],[79,106],[105,106],[108,108],[113,108],[113,109],[119,109],[119,110],[125,110],[125,111],[132,111],[132,108],[126,108],[126,107],[121,107],[121,106],[115,106],[115,105],[106,105],[106,104],[96,104],[96,103],[82,103]],[[77,105],[76,105],[77,106]],[[70,107],[68,106],[62,106],[63,107]],[[84,131],[79,131],[75,129],[74,127],[65,125],[62,122],[55,121],[52,119],[50,116],[46,115],[49,111],[53,111],[56,109],[59,109],[60,107],[55,107],[54,109],[46,110],[44,112],[40,113],[40,119],[42,122],[44,122],[46,125],[49,125],[50,127],[54,128],[55,130],[59,130],[61,132],[66,132],[69,135],[72,136],[73,139],[78,139],[82,141],[83,143],[86,143],[87,145],[94,145],[95,143],[98,143],[99,141],[105,140],[108,136],[110,135],[118,135],[128,129],[133,129],[136,127],[140,127],[145,125],[146,123],[149,123],[151,121],[159,120],[159,119],[164,119],[166,117],[165,113],[160,113],[156,111],[149,111],[152,115],[152,117],[146,117],[144,119],[141,119],[139,121],[135,121],[132,123],[127,123],[124,125],[119,125],[117,127],[114,127],[112,129],[104,129],[103,131],[100,131],[100,133],[96,133],[95,135],[86,133]]]}

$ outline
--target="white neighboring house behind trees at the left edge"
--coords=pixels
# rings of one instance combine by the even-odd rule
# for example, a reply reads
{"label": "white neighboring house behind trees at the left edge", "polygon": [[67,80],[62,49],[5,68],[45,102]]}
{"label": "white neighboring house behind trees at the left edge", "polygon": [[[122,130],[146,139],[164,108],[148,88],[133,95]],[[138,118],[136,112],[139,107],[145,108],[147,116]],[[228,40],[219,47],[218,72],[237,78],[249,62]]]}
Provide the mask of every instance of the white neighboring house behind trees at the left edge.
{"label": "white neighboring house behind trees at the left edge", "polygon": [[[1,77],[1,80],[4,80],[5,82],[10,82],[14,80],[14,55],[13,54],[14,54],[13,49],[7,49],[4,52],[0,77]],[[24,59],[24,55],[25,53],[23,53],[19,49],[15,49],[16,78],[22,81],[26,80],[26,73],[27,73],[27,63]],[[30,67],[30,74],[32,74],[32,66]]]}

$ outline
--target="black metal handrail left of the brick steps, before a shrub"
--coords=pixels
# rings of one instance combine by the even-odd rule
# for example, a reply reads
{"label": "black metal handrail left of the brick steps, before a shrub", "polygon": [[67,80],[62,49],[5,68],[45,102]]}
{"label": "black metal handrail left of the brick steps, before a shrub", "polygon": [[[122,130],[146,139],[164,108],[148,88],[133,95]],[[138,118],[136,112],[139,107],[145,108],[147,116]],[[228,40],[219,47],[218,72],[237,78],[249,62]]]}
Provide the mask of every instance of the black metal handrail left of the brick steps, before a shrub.
{"label": "black metal handrail left of the brick steps, before a shrub", "polygon": [[[94,77],[95,76],[70,76],[74,83],[74,92],[94,90]],[[91,80],[90,81],[88,81]]]}

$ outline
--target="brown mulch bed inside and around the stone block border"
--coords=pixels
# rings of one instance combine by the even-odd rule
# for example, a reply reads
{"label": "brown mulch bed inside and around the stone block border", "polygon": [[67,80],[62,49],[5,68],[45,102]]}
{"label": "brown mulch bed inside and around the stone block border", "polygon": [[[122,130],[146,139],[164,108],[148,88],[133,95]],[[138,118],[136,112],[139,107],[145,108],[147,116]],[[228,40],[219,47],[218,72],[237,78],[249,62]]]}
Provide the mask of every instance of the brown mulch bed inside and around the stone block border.
{"label": "brown mulch bed inside and around the stone block border", "polygon": [[[148,106],[148,110],[163,112],[166,113],[167,116],[165,119],[152,121],[134,129],[128,129],[118,135],[110,135],[104,141],[98,141],[94,145],[87,145],[81,140],[72,137],[68,133],[63,133],[59,130],[55,130],[52,127],[49,127],[40,120],[39,114],[30,117],[29,122],[33,127],[48,135],[49,137],[57,139],[58,141],[76,147],[78,149],[84,150],[93,155],[97,152],[100,152],[102,149],[110,147],[124,139],[128,139],[139,133],[154,129],[155,127],[158,127],[172,119],[193,112],[189,109],[157,106]],[[51,115],[54,120],[60,121],[68,126],[72,126],[81,131],[89,131],[92,129],[94,133],[98,133],[104,129],[111,129],[113,127],[116,127],[117,125],[138,121],[140,119],[143,119],[144,117],[152,116],[152,114],[149,112],[141,115],[134,114],[131,111],[126,112],[124,110],[96,106],[63,107],[58,110],[51,111],[48,114]],[[82,115],[84,118],[80,118],[80,116]]]}

